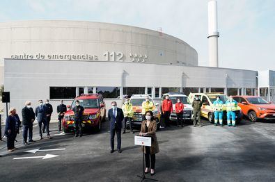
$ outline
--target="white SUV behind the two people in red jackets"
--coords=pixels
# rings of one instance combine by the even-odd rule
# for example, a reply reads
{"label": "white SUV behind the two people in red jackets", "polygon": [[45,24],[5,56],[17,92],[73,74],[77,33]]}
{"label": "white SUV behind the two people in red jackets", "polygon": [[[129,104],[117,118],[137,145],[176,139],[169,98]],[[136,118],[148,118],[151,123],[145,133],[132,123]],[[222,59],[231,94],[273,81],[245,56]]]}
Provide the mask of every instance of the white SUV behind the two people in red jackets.
{"label": "white SUV behind the two people in red jackets", "polygon": [[180,92],[168,92],[164,94],[162,99],[165,99],[165,96],[168,95],[173,103],[173,113],[170,115],[171,121],[177,121],[177,115],[175,114],[175,104],[177,103],[177,99],[180,99],[184,104],[183,108],[183,119],[191,120],[193,119],[193,107],[191,106],[191,102],[187,95],[180,93]]}

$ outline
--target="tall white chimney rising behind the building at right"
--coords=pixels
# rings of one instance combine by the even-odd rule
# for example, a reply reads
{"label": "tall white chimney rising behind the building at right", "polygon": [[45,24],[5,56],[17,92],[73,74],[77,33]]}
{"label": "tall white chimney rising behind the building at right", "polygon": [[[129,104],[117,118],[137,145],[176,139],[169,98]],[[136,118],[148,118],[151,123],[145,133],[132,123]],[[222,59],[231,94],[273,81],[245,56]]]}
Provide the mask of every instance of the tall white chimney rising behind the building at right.
{"label": "tall white chimney rising behind the building at right", "polygon": [[208,46],[209,46],[209,66],[219,67],[218,59],[218,17],[217,1],[208,2]]}

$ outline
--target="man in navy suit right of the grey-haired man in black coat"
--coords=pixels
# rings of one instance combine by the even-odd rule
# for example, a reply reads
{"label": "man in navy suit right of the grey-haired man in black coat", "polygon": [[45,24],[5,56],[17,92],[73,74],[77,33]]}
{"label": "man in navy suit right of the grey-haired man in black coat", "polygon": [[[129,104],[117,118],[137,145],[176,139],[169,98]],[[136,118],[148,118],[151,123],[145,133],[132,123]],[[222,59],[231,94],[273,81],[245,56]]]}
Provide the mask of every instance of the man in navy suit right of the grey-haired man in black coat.
{"label": "man in navy suit right of the grey-haired man in black coat", "polygon": [[40,135],[40,140],[42,140],[42,124],[46,126],[46,131],[49,139],[52,139],[51,136],[49,135],[49,127],[47,126],[47,106],[43,105],[43,101],[39,100],[38,101],[39,106],[36,107],[36,118],[38,121],[38,126],[39,126],[39,135]]}

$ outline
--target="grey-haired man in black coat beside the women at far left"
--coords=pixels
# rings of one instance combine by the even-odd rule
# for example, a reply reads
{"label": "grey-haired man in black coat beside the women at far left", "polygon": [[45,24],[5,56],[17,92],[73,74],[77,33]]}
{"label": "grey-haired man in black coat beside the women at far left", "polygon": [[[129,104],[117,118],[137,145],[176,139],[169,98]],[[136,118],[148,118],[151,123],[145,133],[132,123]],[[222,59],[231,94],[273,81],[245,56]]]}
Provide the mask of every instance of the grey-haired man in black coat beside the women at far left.
{"label": "grey-haired man in black coat beside the women at far left", "polygon": [[29,131],[29,142],[35,142],[33,140],[33,122],[36,119],[36,115],[31,108],[31,102],[26,101],[25,107],[22,108],[22,122],[23,122],[23,142],[28,144],[28,131]]}

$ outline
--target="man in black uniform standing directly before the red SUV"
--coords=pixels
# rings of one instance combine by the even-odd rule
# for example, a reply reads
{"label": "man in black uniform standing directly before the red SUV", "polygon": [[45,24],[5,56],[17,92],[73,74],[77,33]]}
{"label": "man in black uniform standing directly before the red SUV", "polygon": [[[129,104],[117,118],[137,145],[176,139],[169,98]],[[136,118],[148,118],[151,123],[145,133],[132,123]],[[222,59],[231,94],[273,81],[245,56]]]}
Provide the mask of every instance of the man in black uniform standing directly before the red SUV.
{"label": "man in black uniform standing directly before the red SUV", "polygon": [[84,114],[84,107],[80,106],[79,100],[75,101],[74,111],[74,137],[82,136],[82,117]]}

